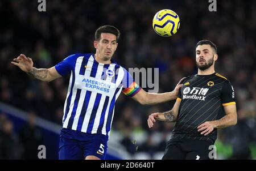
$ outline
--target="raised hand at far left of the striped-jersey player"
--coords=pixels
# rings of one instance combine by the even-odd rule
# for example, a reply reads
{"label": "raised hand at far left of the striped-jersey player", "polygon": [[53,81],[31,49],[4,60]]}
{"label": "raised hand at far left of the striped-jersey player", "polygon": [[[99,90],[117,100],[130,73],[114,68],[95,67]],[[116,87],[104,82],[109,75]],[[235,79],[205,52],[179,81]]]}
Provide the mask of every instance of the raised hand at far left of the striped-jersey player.
{"label": "raised hand at far left of the striped-jersey player", "polygon": [[33,61],[31,58],[26,57],[24,54],[20,54],[17,58],[13,59],[13,65],[18,66],[24,72],[30,72],[33,69]]}

